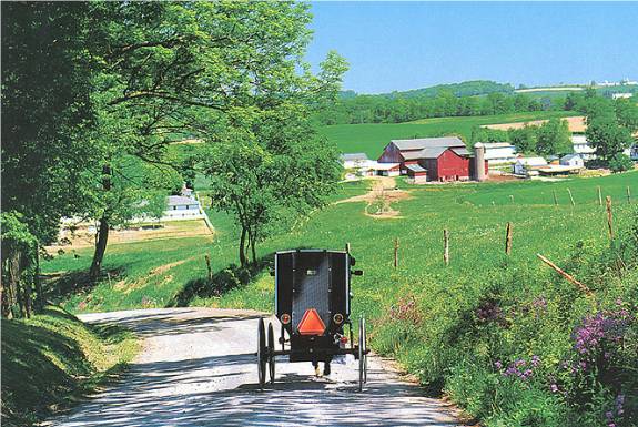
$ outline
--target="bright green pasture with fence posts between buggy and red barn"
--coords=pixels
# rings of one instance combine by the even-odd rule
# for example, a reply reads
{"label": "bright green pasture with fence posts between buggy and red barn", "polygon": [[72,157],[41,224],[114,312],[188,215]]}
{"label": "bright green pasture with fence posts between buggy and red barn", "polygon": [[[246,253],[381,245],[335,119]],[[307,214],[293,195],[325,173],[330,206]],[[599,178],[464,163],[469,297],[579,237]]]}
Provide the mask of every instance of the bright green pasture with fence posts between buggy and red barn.
{"label": "bright green pasture with fence posts between buggy and red barn", "polygon": [[[364,193],[365,183],[342,185],[333,200]],[[628,185],[638,185],[638,173],[608,177],[574,179],[564,182],[505,182],[402,186],[413,199],[393,205],[399,218],[377,220],[364,215],[365,203],[341,203],[311,216],[287,234],[276,235],[259,246],[260,256],[290,247],[341,248],[351,242],[353,252],[366,270],[356,278],[361,309],[377,313],[392,298],[383,301],[381,289],[409,286],[418,277],[436,275],[454,279],[465,276],[477,265],[486,268],[502,261],[503,233],[506,222],[516,230],[510,262],[539,267],[535,254],[541,252],[560,260],[576,242],[604,238],[604,214],[597,205],[596,187],[618,203],[618,216],[626,209]],[[571,206],[567,189],[576,206]],[[556,191],[559,206],[554,206]],[[634,190],[634,194],[638,190]],[[514,202],[513,202],[513,197]],[[205,197],[204,197],[205,199]],[[54,296],[74,312],[111,311],[135,307],[163,307],[186,304],[257,306],[269,308],[272,278],[257,276],[255,286],[241,286],[220,297],[198,297],[189,289],[205,282],[204,256],[211,257],[214,274],[224,273],[237,261],[236,230],[232,218],[210,212],[215,240],[209,236],[149,240],[110,245],[104,277],[93,287],[83,287],[82,273],[90,265],[91,250],[78,250],[79,257],[67,253],[45,262],[49,274],[67,272]],[[442,232],[452,236],[452,265],[442,265]],[[401,266],[391,268],[393,238],[401,242]],[[227,272],[226,272],[227,273]],[[264,293],[267,291],[267,293]],[[384,303],[384,304],[382,304]]]}

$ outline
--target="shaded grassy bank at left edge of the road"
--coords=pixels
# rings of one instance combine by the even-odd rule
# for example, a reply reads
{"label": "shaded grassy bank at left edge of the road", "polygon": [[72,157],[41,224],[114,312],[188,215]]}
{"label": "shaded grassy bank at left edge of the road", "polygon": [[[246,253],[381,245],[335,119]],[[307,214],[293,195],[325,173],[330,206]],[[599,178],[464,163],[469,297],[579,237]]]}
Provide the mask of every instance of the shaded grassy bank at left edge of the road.
{"label": "shaded grassy bank at left edge of the road", "polygon": [[3,425],[28,426],[68,407],[117,377],[136,350],[131,333],[84,325],[57,307],[3,319]]}

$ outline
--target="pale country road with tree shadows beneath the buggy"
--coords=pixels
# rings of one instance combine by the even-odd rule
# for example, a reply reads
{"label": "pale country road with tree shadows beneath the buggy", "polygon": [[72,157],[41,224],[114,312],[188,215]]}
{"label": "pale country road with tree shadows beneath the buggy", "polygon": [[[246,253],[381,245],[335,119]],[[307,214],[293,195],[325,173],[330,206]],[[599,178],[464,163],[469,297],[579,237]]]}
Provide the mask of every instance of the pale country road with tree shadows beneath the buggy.
{"label": "pale country road with tree shadows beneath the buggy", "polygon": [[120,380],[49,426],[458,425],[448,405],[424,397],[377,357],[369,359],[363,393],[354,360],[333,363],[328,379],[286,357],[277,359],[276,383],[260,390],[256,312],[166,308],[80,317],[132,328],[143,349]]}

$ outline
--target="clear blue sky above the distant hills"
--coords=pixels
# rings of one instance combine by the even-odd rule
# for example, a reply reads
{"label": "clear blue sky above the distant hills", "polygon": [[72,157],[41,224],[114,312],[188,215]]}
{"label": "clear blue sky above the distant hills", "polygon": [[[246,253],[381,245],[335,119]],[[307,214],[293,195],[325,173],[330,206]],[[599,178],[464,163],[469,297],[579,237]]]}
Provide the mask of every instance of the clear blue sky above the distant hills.
{"label": "clear blue sky above the distant hills", "polygon": [[638,3],[312,2],[316,65],[336,50],[359,93],[466,80],[638,80]]}

